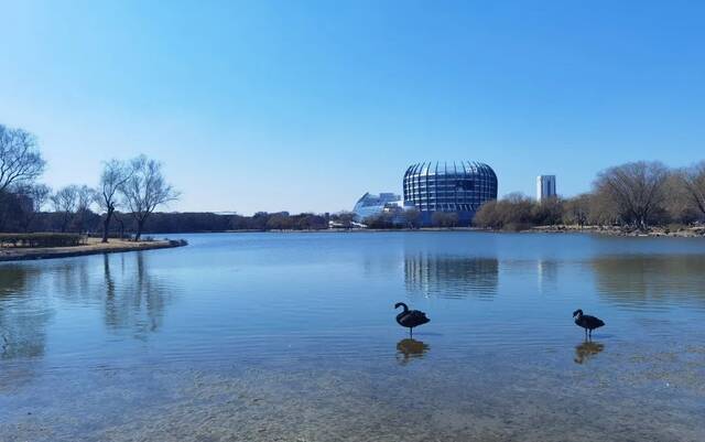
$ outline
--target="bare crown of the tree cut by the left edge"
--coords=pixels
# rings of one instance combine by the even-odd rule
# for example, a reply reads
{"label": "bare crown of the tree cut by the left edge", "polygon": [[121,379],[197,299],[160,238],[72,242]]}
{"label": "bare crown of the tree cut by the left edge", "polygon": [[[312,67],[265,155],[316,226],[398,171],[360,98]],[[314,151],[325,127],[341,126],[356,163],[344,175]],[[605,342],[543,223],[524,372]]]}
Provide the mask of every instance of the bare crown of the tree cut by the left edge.
{"label": "bare crown of the tree cut by the left edge", "polygon": [[44,164],[34,136],[0,125],[0,193],[12,184],[35,180]]}

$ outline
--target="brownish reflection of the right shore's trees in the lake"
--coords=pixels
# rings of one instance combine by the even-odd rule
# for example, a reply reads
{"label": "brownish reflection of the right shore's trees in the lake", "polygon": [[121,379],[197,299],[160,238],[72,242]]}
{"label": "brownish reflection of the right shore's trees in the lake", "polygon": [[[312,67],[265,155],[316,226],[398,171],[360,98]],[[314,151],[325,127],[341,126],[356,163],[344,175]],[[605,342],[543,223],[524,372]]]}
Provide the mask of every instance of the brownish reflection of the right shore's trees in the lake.
{"label": "brownish reflection of the right shore's trees in the lake", "polygon": [[610,256],[592,261],[598,294],[621,305],[686,303],[705,308],[701,255]]}

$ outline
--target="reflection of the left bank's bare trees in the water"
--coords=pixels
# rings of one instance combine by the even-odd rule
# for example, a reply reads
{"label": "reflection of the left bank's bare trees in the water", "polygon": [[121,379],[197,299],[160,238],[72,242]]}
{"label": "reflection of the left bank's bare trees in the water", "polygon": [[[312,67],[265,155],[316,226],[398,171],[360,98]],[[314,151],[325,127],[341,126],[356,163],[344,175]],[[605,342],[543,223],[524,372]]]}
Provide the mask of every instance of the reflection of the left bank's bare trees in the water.
{"label": "reflection of the left bank's bare trees in the water", "polygon": [[[0,359],[44,356],[47,326],[63,309],[98,309],[107,330],[147,339],[162,327],[173,295],[148,259],[138,252],[0,266]],[[64,327],[78,333],[84,325]]]}

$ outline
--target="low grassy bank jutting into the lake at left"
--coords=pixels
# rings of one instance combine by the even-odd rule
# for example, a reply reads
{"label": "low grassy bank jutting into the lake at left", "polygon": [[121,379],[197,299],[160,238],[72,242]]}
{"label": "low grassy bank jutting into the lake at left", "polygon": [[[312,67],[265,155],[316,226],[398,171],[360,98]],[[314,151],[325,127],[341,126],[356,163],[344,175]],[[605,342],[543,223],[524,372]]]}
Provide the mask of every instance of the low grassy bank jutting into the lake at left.
{"label": "low grassy bank jutting into the lake at left", "polygon": [[185,242],[169,239],[140,242],[111,239],[110,242],[102,244],[99,238],[89,238],[87,245],[74,247],[0,248],[0,262],[123,254],[128,251],[170,249],[184,246],[186,246]]}

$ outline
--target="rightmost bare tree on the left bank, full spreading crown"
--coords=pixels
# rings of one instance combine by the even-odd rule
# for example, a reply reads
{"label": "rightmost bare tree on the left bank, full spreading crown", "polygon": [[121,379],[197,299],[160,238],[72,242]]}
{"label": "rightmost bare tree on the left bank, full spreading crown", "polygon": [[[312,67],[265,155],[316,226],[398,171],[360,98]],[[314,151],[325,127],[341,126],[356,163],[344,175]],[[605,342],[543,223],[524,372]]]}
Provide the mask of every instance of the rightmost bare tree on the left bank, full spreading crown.
{"label": "rightmost bare tree on the left bank, full spreading crown", "polygon": [[130,162],[130,179],[120,192],[137,223],[134,240],[139,241],[150,214],[160,205],[177,200],[180,193],[164,180],[160,162],[140,155]]}

